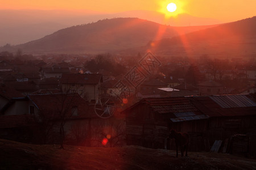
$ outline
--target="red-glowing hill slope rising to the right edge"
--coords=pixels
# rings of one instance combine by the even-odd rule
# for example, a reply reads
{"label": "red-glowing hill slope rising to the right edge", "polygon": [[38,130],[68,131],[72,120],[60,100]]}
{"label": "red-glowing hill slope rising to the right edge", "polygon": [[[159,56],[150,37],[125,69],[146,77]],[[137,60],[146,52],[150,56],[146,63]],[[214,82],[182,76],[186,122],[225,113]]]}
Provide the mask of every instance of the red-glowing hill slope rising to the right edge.
{"label": "red-glowing hill slope rising to the right edge", "polygon": [[154,41],[142,49],[162,56],[256,57],[256,16]]}

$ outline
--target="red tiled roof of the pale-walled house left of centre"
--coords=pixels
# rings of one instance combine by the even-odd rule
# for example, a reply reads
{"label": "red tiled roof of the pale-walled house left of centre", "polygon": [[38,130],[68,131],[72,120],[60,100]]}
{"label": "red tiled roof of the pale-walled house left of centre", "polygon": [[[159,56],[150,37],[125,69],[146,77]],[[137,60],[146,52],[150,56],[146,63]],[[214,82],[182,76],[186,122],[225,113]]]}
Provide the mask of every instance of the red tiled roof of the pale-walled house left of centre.
{"label": "red tiled roof of the pale-walled house left of centre", "polygon": [[63,74],[60,83],[98,84],[102,80],[102,74]]}

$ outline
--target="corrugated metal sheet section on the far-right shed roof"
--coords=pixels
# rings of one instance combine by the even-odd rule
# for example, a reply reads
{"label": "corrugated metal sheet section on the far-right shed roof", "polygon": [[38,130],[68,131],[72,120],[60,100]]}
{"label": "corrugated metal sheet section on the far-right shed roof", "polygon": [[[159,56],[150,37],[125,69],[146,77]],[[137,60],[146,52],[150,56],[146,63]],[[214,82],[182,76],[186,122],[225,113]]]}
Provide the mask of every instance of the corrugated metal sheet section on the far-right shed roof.
{"label": "corrugated metal sheet section on the far-right shed roof", "polygon": [[256,107],[256,103],[246,95],[210,96],[222,108]]}

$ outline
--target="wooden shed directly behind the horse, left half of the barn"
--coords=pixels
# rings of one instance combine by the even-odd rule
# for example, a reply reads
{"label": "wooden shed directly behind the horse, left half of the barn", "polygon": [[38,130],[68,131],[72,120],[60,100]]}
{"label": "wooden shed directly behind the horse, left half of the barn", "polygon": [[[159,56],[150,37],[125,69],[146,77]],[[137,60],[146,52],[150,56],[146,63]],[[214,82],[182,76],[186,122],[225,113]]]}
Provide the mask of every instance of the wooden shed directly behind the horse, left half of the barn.
{"label": "wooden shed directly behind the horse, left half of the barn", "polygon": [[[175,148],[167,143],[171,129],[191,134],[190,150],[203,150],[203,132],[207,130],[208,116],[193,104],[189,97],[147,98],[123,111],[126,114],[127,145],[150,148]],[[196,139],[195,139],[196,138]]]}

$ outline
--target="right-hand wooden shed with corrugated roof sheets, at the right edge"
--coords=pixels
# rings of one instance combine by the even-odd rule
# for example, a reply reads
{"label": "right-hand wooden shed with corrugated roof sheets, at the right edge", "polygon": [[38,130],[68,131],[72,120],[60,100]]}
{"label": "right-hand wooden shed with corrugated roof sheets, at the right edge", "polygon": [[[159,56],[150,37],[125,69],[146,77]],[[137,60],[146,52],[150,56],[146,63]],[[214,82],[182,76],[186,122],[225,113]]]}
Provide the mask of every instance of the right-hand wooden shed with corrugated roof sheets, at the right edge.
{"label": "right-hand wooden shed with corrugated roof sheets, at the right edge", "polygon": [[256,100],[253,96],[195,96],[192,103],[209,116],[209,146],[216,140],[229,141],[230,144],[233,135],[245,134],[250,138],[248,154],[256,156]]}

